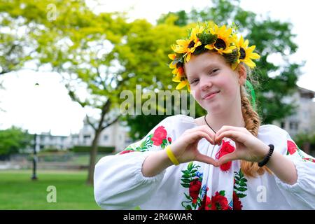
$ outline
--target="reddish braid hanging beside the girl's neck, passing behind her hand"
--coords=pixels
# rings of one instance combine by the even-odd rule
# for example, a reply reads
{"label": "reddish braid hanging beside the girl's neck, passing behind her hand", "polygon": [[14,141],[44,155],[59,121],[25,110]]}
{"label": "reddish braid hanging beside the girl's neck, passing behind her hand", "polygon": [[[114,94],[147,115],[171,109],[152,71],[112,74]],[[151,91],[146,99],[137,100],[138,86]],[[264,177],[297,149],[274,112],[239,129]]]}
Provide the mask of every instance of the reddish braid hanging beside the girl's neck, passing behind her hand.
{"label": "reddish braid hanging beside the girl's neck, passing behind her hand", "polygon": [[[257,137],[260,127],[260,118],[258,113],[253,110],[246,94],[244,86],[241,86],[241,113],[243,114],[246,129],[248,132],[251,132],[253,136]],[[250,177],[255,177],[256,174],[262,175],[265,171],[272,174],[267,167],[258,167],[257,162],[248,162],[245,160],[241,161],[241,171]]]}

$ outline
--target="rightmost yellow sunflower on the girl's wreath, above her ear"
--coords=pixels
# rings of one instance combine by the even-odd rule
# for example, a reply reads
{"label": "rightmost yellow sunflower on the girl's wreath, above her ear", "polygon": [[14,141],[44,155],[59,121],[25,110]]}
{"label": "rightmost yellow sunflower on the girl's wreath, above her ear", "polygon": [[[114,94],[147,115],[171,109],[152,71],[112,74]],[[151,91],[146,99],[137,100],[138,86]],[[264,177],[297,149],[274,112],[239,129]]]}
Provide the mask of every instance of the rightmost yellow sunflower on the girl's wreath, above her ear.
{"label": "rightmost yellow sunflower on the girl's wreath, above her ear", "polygon": [[247,64],[251,69],[256,66],[256,64],[251,59],[259,59],[260,56],[256,53],[253,53],[253,50],[255,50],[255,45],[252,45],[248,48],[248,40],[244,41],[243,36],[239,38],[239,41],[236,43],[237,48],[239,49],[239,59],[237,59],[237,62],[232,64],[232,69],[235,70],[237,65],[241,62],[244,62]]}

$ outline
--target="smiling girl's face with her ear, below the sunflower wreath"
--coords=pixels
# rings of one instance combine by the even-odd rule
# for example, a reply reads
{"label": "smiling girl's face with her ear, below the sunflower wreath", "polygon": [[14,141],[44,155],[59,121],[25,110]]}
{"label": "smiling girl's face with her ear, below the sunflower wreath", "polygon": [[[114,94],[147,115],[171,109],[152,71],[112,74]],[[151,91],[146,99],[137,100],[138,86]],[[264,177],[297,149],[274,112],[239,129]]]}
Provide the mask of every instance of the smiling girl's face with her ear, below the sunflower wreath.
{"label": "smiling girl's face with her ear, below the sunflower wreath", "polygon": [[226,112],[241,104],[240,85],[246,80],[244,66],[233,71],[223,56],[204,52],[192,55],[185,72],[193,97],[208,112]]}

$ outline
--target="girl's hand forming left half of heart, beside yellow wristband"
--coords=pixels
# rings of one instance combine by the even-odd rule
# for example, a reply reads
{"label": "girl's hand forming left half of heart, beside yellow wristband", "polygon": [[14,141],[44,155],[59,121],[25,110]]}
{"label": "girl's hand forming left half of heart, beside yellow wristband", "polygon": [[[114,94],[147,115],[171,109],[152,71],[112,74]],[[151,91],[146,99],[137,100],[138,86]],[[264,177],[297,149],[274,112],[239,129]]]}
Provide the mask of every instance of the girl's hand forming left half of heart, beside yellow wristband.
{"label": "girl's hand forming left half of heart, beside yellow wristband", "polygon": [[200,161],[218,167],[217,161],[198,151],[197,145],[202,138],[214,144],[215,133],[207,125],[191,128],[183,132],[179,139],[171,144],[171,150],[179,163]]}

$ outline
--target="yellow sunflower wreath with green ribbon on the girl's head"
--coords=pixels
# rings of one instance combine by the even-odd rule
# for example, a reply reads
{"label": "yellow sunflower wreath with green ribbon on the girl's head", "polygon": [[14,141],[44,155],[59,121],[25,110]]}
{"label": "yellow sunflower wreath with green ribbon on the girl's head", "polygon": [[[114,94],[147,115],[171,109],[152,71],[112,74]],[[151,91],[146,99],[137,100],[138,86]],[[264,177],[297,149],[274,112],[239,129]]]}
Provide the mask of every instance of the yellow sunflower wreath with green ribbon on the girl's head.
{"label": "yellow sunflower wreath with green ribbon on the girl's head", "polygon": [[[172,59],[169,68],[173,69],[172,80],[179,83],[176,90],[181,90],[187,85],[190,92],[190,85],[183,65],[190,60],[192,54],[199,55],[207,50],[218,52],[231,64],[233,70],[241,62],[244,62],[251,69],[256,66],[251,60],[260,58],[257,53],[253,52],[255,45],[248,47],[248,40],[244,41],[243,36],[238,38],[236,29],[235,26],[230,28],[225,27],[225,25],[218,27],[214,22],[209,22],[204,26],[197,25],[197,27],[190,29],[187,39],[177,40],[177,44],[172,45],[172,50],[175,53],[169,55],[169,58]],[[246,85],[251,91],[253,102],[255,102],[253,86],[248,80],[246,80]]]}

